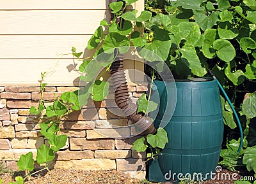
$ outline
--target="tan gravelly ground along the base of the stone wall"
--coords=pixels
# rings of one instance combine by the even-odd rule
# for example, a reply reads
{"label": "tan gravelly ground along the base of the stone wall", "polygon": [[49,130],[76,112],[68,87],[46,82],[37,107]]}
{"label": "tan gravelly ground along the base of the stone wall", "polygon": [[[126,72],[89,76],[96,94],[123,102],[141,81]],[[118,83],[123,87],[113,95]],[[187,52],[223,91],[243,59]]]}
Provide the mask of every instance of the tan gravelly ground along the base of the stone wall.
{"label": "tan gravelly ground along the base of the stone wall", "polygon": [[[3,174],[0,178],[3,179],[3,184],[8,184],[10,181],[14,181],[15,176],[20,176],[22,173],[15,172],[14,174]],[[219,175],[218,175],[219,174]],[[216,174],[216,180],[207,180],[201,182],[185,182],[185,183],[200,183],[200,184],[233,184],[234,180],[221,180],[221,174],[229,174],[232,178],[232,172],[223,169],[221,173]],[[24,175],[24,173],[23,173]],[[219,179],[218,180],[218,176]],[[237,179],[239,174],[237,173]],[[31,176],[26,184],[150,184],[147,180],[137,180],[125,176],[124,173],[118,171],[81,171],[75,169],[52,169],[50,172],[42,171]],[[170,183],[170,182],[169,182]]]}

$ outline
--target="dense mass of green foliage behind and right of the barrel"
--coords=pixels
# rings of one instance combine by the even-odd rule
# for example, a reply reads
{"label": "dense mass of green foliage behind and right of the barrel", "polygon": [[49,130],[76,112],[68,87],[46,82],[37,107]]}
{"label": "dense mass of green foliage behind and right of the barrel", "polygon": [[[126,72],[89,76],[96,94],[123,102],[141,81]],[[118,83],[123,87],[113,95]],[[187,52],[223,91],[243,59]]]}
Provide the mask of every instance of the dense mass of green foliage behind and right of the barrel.
{"label": "dense mass of green foliage behind and right of the barrel", "polygon": [[[221,150],[221,164],[235,171],[245,158],[243,164],[246,164],[247,169],[256,171],[253,169],[253,160],[248,161],[253,158],[250,152],[256,145],[255,125],[250,123],[256,117],[255,1],[147,0],[145,5],[147,10],[152,11],[152,18],[145,23],[148,34],[145,45],[159,41],[158,32],[162,32],[162,35],[168,32],[172,46],[165,47],[165,50],[161,48],[166,53],[161,59],[168,64],[173,76],[178,79],[207,76],[206,71],[211,69],[235,109],[240,112],[244,149],[237,153],[239,129],[236,128],[233,111],[221,97],[224,122],[227,125],[224,136],[228,142]],[[163,31],[157,31],[156,27]]]}

